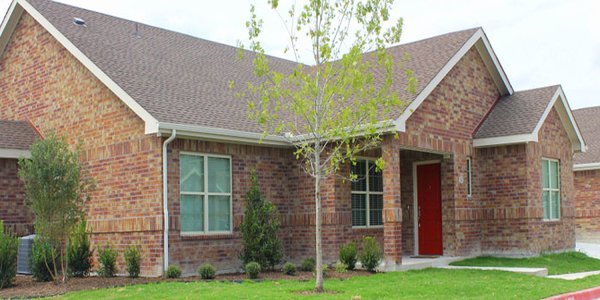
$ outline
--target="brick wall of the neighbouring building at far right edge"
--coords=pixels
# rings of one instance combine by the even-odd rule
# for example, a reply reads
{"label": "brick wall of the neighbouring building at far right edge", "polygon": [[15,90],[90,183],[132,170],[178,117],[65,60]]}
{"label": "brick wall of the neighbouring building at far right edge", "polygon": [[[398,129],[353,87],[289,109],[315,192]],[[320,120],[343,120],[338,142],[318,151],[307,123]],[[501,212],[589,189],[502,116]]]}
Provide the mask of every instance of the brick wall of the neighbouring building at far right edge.
{"label": "brick wall of the neighbouring building at far right edge", "polygon": [[577,240],[600,242],[600,170],[577,171],[574,182]]}

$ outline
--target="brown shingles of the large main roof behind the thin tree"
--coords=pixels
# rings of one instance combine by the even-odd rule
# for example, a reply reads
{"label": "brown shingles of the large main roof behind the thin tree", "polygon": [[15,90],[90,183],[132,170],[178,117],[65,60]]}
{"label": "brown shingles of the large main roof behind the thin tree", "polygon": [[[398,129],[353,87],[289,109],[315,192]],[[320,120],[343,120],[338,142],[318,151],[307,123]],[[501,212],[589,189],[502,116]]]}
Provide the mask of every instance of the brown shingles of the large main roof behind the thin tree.
{"label": "brown shingles of the large main roof behind the thin tree", "polygon": [[[246,103],[229,88],[256,82],[250,59],[235,47],[47,0],[28,0],[50,23],[159,122],[262,132],[248,120]],[[86,26],[73,24],[81,18]],[[469,29],[390,48],[419,81],[418,92],[477,31]],[[295,62],[269,58],[281,72]],[[403,72],[397,72],[405,86]],[[415,95],[399,90],[408,105]],[[418,94],[418,93],[417,93]],[[398,112],[395,117],[399,117]]]}

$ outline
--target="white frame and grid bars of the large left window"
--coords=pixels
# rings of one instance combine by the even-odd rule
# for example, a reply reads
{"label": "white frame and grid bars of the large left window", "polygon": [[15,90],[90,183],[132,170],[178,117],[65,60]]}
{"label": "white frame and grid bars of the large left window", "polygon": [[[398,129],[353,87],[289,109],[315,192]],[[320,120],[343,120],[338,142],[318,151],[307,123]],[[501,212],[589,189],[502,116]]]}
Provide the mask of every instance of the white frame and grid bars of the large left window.
{"label": "white frame and grid bars of the large left window", "polygon": [[[179,228],[179,234],[181,236],[204,236],[204,235],[223,235],[223,234],[232,234],[233,233],[233,170],[231,164],[231,155],[217,155],[217,154],[207,154],[207,153],[199,153],[199,152],[179,152],[179,163],[181,164],[181,156],[182,155],[193,155],[193,156],[202,156],[204,157],[204,192],[182,192],[181,186],[179,187],[179,201],[181,203],[181,195],[201,195],[203,196],[203,206],[204,206],[204,231],[181,231]],[[229,193],[214,193],[208,192],[208,158],[227,158],[229,159]],[[179,170],[181,170],[181,165],[179,166]],[[181,182],[181,178],[180,178]],[[208,231],[208,196],[229,196],[229,230],[222,231]],[[181,206],[180,206],[181,209]],[[179,219],[181,220],[181,212],[179,213]],[[181,224],[181,221],[179,222]]]}

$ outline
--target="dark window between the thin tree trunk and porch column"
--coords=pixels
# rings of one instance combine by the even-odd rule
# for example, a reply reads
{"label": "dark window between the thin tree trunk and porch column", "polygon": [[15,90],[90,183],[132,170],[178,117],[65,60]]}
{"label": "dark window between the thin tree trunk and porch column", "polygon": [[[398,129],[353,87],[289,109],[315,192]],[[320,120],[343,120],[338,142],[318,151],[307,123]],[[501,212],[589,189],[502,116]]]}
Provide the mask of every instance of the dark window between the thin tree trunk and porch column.
{"label": "dark window between the thin tree trunk and porch column", "polygon": [[383,225],[383,176],[372,160],[358,160],[352,166],[357,179],[352,182],[352,226]]}

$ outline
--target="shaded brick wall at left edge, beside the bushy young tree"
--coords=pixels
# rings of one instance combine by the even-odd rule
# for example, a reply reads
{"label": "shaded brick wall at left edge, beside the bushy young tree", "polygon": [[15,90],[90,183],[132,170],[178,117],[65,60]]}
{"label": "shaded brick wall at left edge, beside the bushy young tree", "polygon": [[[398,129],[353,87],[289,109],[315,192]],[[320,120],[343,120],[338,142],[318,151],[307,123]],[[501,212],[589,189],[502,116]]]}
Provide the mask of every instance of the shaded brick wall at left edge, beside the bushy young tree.
{"label": "shaded brick wall at left edge, beside the bushy young tree", "polygon": [[33,232],[33,214],[25,203],[18,170],[16,159],[0,158],[0,220],[7,229],[23,236]]}

